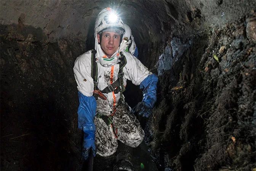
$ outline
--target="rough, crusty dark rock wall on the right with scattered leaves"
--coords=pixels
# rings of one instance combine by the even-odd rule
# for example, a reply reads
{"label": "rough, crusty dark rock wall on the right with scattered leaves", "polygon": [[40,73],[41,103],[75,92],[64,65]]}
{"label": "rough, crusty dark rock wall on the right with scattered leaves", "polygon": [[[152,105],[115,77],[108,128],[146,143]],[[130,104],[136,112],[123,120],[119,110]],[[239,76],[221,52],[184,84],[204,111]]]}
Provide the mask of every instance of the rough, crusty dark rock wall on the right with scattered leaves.
{"label": "rough, crusty dark rock wall on the right with scattered leaves", "polygon": [[248,24],[241,19],[200,35],[182,55],[183,67],[173,64],[177,82],[164,71],[147,133],[160,169],[255,168],[256,44],[246,37]]}

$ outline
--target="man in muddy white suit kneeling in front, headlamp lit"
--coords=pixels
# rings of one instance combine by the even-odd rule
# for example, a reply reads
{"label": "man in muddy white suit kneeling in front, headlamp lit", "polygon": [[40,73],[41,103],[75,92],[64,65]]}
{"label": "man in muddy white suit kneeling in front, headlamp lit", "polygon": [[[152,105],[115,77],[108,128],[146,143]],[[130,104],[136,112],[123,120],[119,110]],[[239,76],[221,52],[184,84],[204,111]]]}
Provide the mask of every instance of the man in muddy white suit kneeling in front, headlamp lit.
{"label": "man in muddy white suit kneeling in front, headlamp lit", "polygon": [[105,8],[94,27],[95,57],[90,50],[75,60],[74,75],[80,102],[78,128],[84,133],[85,159],[90,149],[96,155],[96,147],[97,154],[112,155],[118,140],[130,147],[142,142],[144,131],[122,95],[127,79],[143,89],[143,100],[134,108],[135,112],[149,117],[156,101],[157,76],[130,53],[119,51],[124,33],[122,19],[111,8]]}

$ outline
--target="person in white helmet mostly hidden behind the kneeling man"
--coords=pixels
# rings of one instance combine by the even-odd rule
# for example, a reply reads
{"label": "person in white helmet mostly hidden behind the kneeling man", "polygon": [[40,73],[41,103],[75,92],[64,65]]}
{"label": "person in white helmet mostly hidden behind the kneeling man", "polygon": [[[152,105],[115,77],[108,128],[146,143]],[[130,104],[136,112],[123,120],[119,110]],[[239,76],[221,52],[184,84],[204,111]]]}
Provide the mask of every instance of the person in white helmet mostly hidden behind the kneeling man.
{"label": "person in white helmet mostly hidden behind the kneeling man", "polygon": [[139,56],[138,47],[136,46],[133,35],[131,34],[131,28],[127,24],[124,24],[124,27],[125,27],[125,34],[123,35],[124,41],[120,45],[120,49],[122,51],[129,52],[133,56],[138,58]]}

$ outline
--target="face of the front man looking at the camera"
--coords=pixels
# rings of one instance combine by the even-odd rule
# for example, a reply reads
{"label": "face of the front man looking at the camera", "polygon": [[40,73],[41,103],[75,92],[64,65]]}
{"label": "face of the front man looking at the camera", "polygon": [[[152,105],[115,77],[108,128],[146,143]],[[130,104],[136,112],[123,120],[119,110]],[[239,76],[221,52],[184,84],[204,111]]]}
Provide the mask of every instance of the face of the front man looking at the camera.
{"label": "face of the front man looking at the camera", "polygon": [[98,42],[101,44],[101,49],[110,58],[117,51],[120,43],[120,34],[115,32],[103,32],[100,41],[100,35],[97,34]]}

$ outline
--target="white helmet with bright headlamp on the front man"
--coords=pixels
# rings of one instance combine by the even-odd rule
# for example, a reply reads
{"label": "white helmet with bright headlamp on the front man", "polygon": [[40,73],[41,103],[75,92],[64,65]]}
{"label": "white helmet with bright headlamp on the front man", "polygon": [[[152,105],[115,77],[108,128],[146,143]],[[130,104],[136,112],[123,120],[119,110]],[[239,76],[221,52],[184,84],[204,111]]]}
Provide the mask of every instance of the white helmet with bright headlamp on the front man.
{"label": "white helmet with bright headlamp on the front man", "polygon": [[98,17],[96,18],[94,37],[96,37],[97,34],[102,31],[116,32],[120,35],[124,34],[125,32],[122,19],[112,8],[105,8],[98,14]]}

